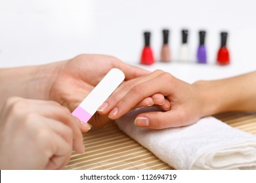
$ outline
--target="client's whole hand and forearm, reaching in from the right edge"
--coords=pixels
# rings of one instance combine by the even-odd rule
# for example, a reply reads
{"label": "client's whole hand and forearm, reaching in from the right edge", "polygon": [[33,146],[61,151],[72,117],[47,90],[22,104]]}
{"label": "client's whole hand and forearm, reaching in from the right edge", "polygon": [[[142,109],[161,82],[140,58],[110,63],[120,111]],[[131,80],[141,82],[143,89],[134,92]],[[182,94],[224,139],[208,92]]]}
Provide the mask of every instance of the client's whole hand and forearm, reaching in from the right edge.
{"label": "client's whole hand and forearm, reaching in from the right edge", "polygon": [[139,114],[135,125],[163,129],[194,124],[203,116],[219,112],[256,111],[256,72],[222,80],[201,80],[194,84],[160,70],[142,78],[144,82],[136,84],[134,80],[135,84],[130,88],[120,87],[106,100],[108,107],[99,113],[116,120],[154,93],[165,96],[170,103],[169,110]]}

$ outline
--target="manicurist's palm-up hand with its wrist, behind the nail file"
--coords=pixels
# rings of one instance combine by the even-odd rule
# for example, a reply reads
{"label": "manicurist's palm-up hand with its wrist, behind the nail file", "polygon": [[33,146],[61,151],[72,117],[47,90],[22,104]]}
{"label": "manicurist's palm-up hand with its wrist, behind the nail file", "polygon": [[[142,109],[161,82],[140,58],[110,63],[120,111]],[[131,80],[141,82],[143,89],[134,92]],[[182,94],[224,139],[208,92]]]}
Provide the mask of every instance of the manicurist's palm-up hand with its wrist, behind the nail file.
{"label": "manicurist's palm-up hand with its wrist, behind the nail file", "polygon": [[[121,69],[125,81],[150,73],[112,56],[89,54],[46,65],[0,69],[0,109],[4,99],[20,96],[53,100],[72,112],[112,68]],[[141,105],[149,103],[153,103],[150,97]],[[98,114],[90,121],[95,126],[107,122],[110,122],[108,116]]]}

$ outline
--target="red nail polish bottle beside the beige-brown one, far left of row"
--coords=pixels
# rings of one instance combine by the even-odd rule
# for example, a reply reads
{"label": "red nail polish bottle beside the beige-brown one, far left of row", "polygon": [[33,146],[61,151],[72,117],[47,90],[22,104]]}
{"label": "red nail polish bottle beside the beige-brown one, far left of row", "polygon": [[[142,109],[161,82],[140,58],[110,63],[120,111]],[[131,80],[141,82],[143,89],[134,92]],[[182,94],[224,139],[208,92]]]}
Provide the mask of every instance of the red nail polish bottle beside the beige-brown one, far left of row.
{"label": "red nail polish bottle beside the beige-brown one, far left of row", "polygon": [[145,45],[142,50],[140,63],[144,65],[151,65],[154,61],[152,49],[150,48],[150,32],[144,32]]}

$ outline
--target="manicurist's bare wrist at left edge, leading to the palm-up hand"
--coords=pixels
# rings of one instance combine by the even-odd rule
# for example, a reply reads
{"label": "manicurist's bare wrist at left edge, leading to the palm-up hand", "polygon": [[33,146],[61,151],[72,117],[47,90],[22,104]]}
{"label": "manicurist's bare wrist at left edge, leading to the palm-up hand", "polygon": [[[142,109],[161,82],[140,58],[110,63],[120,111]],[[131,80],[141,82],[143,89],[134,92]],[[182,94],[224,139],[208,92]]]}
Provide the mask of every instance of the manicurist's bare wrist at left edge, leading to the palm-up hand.
{"label": "manicurist's bare wrist at left edge, leading to the palm-up hand", "polygon": [[12,96],[49,99],[57,69],[56,65],[51,64],[1,69],[1,101]]}

